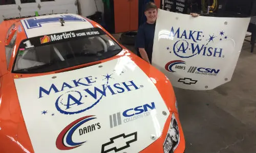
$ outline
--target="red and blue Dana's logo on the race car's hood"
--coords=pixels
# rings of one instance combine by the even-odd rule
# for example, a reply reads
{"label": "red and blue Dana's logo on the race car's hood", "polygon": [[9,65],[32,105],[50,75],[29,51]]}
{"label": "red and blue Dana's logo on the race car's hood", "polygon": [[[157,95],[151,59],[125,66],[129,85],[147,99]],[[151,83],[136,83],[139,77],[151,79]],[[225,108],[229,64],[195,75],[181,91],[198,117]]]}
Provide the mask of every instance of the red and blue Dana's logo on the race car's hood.
{"label": "red and blue Dana's logo on the race car's hood", "polygon": [[[96,119],[93,115],[81,117],[68,126],[66,126],[58,135],[56,139],[56,147],[60,150],[70,150],[81,146],[86,140],[79,142],[76,139],[81,139],[81,135],[94,132],[100,129],[100,123],[92,122],[91,120]],[[86,124],[86,125],[84,125]],[[86,139],[86,136],[82,136]]]}

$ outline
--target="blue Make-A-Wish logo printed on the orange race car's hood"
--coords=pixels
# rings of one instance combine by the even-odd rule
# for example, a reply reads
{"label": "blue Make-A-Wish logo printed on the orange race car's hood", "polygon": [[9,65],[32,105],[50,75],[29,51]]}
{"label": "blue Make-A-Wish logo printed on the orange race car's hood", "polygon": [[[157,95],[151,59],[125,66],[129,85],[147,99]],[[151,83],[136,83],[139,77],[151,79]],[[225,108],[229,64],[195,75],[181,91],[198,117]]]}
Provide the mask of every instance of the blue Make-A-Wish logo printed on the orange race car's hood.
{"label": "blue Make-A-Wish logo printed on the orange race car's hood", "polygon": [[[120,72],[120,75],[123,73],[125,72]],[[39,98],[66,90],[67,92],[54,99],[55,107],[62,114],[78,114],[93,108],[104,97],[133,92],[143,87],[143,85],[138,86],[133,80],[116,82],[115,75],[118,74],[113,72],[98,76],[98,78],[90,76],[61,84],[52,84],[48,88],[39,87]]]}

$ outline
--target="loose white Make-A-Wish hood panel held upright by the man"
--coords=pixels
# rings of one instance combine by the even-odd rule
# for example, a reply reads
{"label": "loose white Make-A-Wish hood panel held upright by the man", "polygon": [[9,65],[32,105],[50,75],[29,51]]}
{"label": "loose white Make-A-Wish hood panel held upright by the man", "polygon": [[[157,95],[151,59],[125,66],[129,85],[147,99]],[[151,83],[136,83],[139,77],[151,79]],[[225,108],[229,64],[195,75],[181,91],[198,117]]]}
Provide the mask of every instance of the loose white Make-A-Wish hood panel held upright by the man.
{"label": "loose white Make-A-Wish hood panel held upright by the man", "polygon": [[174,87],[211,90],[231,81],[250,18],[158,10],[152,65]]}

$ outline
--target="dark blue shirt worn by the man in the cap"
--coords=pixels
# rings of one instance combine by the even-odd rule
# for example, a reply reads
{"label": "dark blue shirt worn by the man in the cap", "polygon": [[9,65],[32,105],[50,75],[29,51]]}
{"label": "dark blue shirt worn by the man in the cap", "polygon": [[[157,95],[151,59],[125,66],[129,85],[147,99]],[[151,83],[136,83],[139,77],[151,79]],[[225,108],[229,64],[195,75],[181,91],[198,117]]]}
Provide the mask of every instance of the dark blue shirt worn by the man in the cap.
{"label": "dark blue shirt worn by the man in the cap", "polygon": [[141,55],[139,53],[139,48],[144,48],[146,50],[150,63],[152,61],[155,28],[156,28],[156,23],[155,24],[150,24],[147,22],[143,23],[138,29],[136,43],[135,43],[138,56],[141,58]]}

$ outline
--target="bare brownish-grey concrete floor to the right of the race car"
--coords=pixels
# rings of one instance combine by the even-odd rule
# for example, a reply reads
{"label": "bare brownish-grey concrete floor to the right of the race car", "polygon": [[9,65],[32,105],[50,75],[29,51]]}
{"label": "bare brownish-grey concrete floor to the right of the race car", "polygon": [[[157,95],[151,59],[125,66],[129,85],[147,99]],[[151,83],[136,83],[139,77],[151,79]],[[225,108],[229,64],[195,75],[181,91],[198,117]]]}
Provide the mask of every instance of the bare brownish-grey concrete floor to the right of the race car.
{"label": "bare brownish-grey concrete floor to the right of the race car", "polygon": [[255,78],[256,47],[250,53],[245,41],[231,82],[209,91],[175,88],[186,153],[256,152]]}

